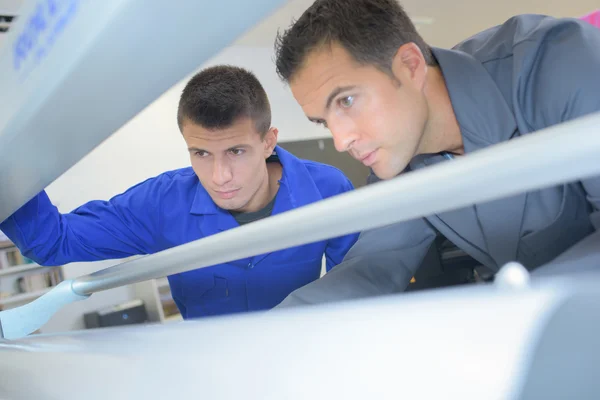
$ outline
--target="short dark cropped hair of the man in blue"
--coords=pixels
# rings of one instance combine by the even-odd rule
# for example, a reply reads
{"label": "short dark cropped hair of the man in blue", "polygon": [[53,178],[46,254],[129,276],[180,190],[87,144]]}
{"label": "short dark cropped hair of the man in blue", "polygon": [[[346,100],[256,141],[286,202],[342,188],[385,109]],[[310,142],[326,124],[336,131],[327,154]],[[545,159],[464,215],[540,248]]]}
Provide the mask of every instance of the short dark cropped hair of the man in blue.
{"label": "short dark cropped hair of the man in blue", "polygon": [[256,76],[243,68],[218,65],[206,68],[187,83],[177,110],[177,124],[186,121],[206,129],[224,129],[240,118],[254,121],[261,135],[271,127],[271,105]]}

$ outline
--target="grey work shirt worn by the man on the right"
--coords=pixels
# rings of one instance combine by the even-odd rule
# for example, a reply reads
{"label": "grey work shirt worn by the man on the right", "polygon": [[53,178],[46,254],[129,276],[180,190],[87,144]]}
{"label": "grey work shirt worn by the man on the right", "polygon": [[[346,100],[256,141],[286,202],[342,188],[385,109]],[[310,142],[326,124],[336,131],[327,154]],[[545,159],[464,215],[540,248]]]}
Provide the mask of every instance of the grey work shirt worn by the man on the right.
{"label": "grey work shirt worn by the man on the right", "polygon": [[[600,30],[585,22],[521,15],[433,54],[466,156],[600,111]],[[438,162],[452,160],[419,156],[410,169]],[[534,269],[576,244],[600,246],[599,210],[596,177],[366,231],[341,264],[280,307],[403,291],[436,230],[492,270],[511,260]]]}

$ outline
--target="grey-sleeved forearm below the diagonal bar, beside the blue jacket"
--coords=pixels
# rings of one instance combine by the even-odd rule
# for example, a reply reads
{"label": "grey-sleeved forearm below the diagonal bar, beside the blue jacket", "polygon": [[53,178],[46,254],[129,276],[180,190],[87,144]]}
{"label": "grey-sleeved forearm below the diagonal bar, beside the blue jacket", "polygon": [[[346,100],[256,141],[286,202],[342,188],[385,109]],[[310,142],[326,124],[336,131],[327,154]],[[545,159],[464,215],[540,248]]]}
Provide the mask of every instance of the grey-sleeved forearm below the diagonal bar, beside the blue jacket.
{"label": "grey-sleeved forearm below the diagonal bar, beside the blue jacket", "polygon": [[277,307],[403,291],[434,239],[435,231],[423,219],[365,231],[341,264],[292,292]]}

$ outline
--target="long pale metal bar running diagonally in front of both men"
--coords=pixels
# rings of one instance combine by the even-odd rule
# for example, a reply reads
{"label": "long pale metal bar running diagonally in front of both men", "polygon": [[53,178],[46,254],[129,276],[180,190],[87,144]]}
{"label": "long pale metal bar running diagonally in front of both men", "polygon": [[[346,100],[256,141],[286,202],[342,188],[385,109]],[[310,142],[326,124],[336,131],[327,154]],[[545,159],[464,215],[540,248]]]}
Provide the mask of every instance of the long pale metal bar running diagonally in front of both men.
{"label": "long pale metal bar running diagonally in front of both men", "polygon": [[599,127],[600,113],[553,126],[391,181],[79,277],[73,282],[73,290],[88,295],[600,175]]}

